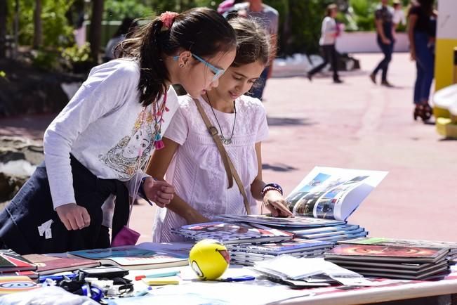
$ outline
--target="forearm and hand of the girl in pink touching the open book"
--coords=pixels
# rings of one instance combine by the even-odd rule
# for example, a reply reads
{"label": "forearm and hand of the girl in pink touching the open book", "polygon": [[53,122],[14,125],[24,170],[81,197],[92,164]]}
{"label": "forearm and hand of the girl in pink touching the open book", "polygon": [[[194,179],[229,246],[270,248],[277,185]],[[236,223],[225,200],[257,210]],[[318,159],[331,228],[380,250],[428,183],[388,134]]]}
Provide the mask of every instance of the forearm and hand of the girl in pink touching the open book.
{"label": "forearm and hand of the girl in pink touching the open book", "polygon": [[292,212],[287,208],[287,202],[277,190],[269,190],[262,197],[261,193],[265,187],[265,182],[262,179],[262,143],[256,143],[257,168],[258,174],[256,179],[251,183],[251,193],[256,200],[262,201],[265,207],[272,212],[273,216],[293,216]]}

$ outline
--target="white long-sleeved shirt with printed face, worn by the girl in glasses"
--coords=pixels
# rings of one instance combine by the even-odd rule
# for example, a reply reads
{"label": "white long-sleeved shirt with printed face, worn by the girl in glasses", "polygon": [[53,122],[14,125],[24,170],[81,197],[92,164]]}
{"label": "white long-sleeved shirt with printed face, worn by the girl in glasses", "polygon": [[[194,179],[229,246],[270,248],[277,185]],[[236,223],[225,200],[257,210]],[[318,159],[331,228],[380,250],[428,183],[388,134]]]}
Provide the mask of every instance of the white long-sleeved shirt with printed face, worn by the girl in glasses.
{"label": "white long-sleeved shirt with printed face, worn by the girl in glasses", "polygon": [[[76,202],[70,153],[100,179],[128,184],[139,180],[135,175],[143,176],[139,168],[154,149],[155,134],[152,105],[139,103],[139,79],[140,67],[131,58],[94,67],[46,129],[44,155],[54,209]],[[158,105],[162,102],[163,97]],[[178,108],[171,86],[166,106],[170,111],[164,112],[161,134]]]}

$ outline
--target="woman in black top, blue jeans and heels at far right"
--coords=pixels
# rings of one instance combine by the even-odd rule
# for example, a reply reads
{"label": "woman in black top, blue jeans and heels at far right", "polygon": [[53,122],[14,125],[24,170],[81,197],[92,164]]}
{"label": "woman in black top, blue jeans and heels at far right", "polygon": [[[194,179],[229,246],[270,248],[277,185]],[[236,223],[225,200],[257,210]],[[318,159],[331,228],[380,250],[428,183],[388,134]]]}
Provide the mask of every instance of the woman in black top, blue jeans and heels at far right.
{"label": "woman in black top, blue jeans and heels at far right", "polygon": [[420,117],[424,122],[432,116],[432,108],[428,104],[430,86],[435,68],[435,32],[436,16],[433,10],[434,0],[418,0],[408,14],[409,52],[411,60],[416,60],[416,84],[414,85],[413,117]]}

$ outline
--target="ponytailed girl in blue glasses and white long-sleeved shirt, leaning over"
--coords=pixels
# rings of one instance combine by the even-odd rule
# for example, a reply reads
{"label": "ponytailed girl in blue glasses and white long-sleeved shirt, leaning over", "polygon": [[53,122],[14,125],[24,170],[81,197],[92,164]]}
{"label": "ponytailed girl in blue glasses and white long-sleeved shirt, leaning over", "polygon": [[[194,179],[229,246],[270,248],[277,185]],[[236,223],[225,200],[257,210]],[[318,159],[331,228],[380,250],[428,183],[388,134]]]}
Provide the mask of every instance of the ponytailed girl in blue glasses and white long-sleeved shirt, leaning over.
{"label": "ponytailed girl in blue glasses and white long-sleeved shirt, leaning over", "polygon": [[[112,238],[140,193],[164,205],[174,188],[142,168],[164,148],[178,98],[217,86],[236,53],[234,30],[208,8],[166,12],[94,67],[44,135],[45,162],[0,214],[0,247],[19,254],[110,247],[102,205],[116,195]],[[129,199],[131,197],[131,199]],[[152,203],[150,202],[152,205]]]}

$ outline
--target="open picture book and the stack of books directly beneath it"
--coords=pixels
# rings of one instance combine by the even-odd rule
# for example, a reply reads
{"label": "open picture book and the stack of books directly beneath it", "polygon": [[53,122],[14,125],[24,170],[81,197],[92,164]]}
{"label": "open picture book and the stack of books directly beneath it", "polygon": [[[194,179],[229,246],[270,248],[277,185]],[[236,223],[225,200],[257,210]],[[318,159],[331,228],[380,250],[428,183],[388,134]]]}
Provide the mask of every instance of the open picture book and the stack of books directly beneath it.
{"label": "open picture book and the stack of books directly beneath it", "polygon": [[280,228],[296,238],[338,242],[365,237],[368,232],[347,218],[382,181],[387,172],[314,167],[286,197],[295,217],[220,215],[224,221],[244,221]]}

